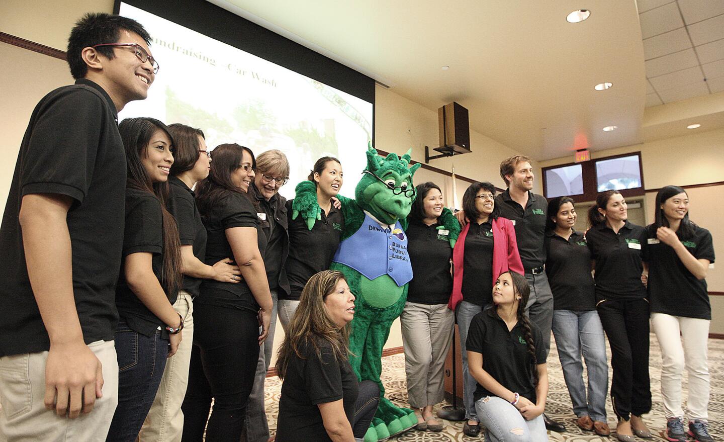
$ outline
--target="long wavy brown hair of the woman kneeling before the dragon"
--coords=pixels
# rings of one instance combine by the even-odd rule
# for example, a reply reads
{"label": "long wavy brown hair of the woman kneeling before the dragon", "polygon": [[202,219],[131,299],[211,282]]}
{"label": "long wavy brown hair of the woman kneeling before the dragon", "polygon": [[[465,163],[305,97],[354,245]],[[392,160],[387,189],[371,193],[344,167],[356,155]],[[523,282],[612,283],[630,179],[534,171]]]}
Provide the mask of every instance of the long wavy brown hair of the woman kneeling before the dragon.
{"label": "long wavy brown hair of the woman kneeling before the dragon", "polygon": [[345,275],[338,270],[324,270],[312,275],[307,281],[282,346],[277,354],[277,373],[284,379],[287,374],[292,354],[303,357],[300,350],[306,345],[313,346],[321,359],[319,340],[327,341],[332,346],[334,357],[338,361],[349,356],[350,325],[340,329],[327,314],[324,300],[334,292],[337,283],[344,280]]}

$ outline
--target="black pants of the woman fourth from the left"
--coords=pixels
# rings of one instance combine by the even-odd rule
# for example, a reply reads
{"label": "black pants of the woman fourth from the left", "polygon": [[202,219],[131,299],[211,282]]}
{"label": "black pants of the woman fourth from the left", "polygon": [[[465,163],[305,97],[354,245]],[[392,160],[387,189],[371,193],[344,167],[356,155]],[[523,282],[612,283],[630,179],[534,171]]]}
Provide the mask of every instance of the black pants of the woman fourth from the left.
{"label": "black pants of the woman fourth from the left", "polygon": [[259,358],[256,314],[198,303],[193,322],[182,441],[201,442],[206,427],[207,442],[238,442]]}

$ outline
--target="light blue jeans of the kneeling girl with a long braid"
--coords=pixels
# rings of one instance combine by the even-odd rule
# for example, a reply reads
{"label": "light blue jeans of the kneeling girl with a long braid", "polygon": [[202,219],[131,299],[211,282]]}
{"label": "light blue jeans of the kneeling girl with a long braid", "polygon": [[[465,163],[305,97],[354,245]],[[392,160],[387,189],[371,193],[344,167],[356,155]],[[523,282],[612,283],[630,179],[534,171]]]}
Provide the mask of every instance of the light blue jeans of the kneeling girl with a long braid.
{"label": "light blue jeans of the kneeling girl with a long braid", "polygon": [[547,442],[543,414],[526,420],[515,406],[497,396],[487,396],[475,403],[480,423],[485,427],[487,442]]}

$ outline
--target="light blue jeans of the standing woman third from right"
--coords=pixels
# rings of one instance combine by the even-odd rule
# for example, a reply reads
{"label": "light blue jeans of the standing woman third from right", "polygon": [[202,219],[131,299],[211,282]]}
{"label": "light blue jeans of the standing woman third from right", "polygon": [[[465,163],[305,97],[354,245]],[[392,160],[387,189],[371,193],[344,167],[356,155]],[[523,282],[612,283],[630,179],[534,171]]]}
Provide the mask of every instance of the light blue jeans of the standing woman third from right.
{"label": "light blue jeans of the standing woman third from right", "polygon": [[[605,335],[598,312],[554,310],[552,330],[565,385],[571,395],[573,413],[578,417],[589,416],[592,420],[606,422],[608,364]],[[587,402],[581,354],[588,371]]]}

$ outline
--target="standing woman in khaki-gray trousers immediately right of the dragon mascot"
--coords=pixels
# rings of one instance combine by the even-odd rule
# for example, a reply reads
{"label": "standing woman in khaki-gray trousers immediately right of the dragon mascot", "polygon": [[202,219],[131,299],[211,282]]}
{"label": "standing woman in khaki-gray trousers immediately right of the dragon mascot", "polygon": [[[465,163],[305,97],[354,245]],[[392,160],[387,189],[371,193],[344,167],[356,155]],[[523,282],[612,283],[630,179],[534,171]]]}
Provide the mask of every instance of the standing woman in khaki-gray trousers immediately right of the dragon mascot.
{"label": "standing woman in khaki-gray trousers immediately right of the dragon mascot", "polygon": [[455,314],[447,308],[452,293],[450,232],[441,228],[442,192],[435,183],[416,186],[408,215],[408,251],[413,278],[400,314],[405,348],[408,402],[419,410],[417,430],[442,431],[432,414],[445,396],[445,357]]}

